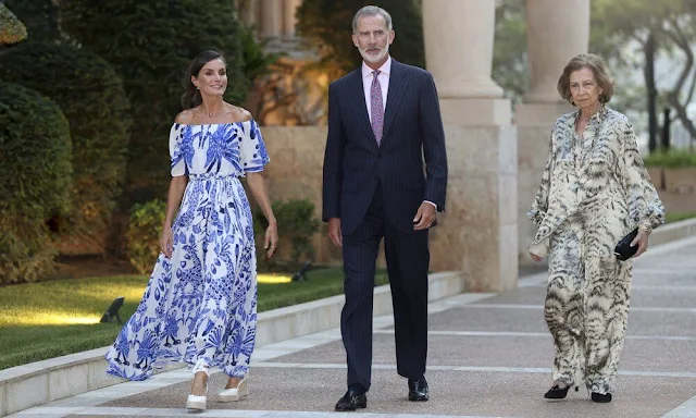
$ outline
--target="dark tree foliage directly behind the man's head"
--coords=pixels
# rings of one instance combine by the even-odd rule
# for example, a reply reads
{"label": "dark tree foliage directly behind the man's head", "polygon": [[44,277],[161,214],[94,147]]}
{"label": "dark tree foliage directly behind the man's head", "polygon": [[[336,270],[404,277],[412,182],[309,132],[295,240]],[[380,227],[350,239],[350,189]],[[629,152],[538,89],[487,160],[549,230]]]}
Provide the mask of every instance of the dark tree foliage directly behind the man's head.
{"label": "dark tree foliage directly behind the man's head", "polygon": [[[378,5],[391,15],[396,38],[389,47],[390,54],[400,62],[424,67],[423,24],[419,2],[405,0],[377,0]],[[352,16],[365,5],[362,0],[304,0],[298,8],[298,33],[309,48],[315,49],[319,61],[315,66],[338,78],[360,64],[362,60],[350,39]]]}

